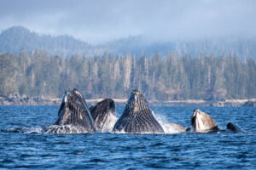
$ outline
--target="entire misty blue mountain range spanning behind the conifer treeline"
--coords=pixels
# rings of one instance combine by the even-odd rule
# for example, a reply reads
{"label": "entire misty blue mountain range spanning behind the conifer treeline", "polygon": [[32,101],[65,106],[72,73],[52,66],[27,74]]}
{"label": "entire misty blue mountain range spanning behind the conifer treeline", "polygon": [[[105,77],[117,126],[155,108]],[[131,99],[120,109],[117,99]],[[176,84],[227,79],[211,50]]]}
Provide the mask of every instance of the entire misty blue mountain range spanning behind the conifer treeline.
{"label": "entire misty blue mountain range spanning behind the conifer treeline", "polygon": [[39,35],[22,26],[13,26],[0,34],[0,53],[2,54],[18,54],[20,50],[29,52],[34,49],[42,49],[48,54],[62,57],[72,55],[93,57],[105,53],[136,54],[137,56],[176,53],[177,55],[189,54],[195,57],[202,54],[216,56],[230,54],[244,60],[256,59],[256,39],[253,38],[226,37],[193,41],[150,42],[143,36],[139,36],[121,38],[94,46],[67,35],[57,37]]}

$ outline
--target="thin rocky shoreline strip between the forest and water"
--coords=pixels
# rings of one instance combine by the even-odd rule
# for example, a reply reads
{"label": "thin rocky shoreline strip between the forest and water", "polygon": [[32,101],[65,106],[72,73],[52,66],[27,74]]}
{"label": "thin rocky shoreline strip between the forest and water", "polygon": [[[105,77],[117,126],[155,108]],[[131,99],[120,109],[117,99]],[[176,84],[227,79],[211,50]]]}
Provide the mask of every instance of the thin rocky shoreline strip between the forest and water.
{"label": "thin rocky shoreline strip between the forest and water", "polygon": [[[95,105],[102,99],[86,99],[88,105]],[[113,99],[115,105],[125,105],[127,99]],[[213,107],[256,107],[256,99],[225,99],[224,101],[206,101],[202,99],[187,100],[148,100],[152,106],[213,106]],[[0,96],[0,105],[61,105],[61,98],[27,97],[14,94],[9,97]]]}

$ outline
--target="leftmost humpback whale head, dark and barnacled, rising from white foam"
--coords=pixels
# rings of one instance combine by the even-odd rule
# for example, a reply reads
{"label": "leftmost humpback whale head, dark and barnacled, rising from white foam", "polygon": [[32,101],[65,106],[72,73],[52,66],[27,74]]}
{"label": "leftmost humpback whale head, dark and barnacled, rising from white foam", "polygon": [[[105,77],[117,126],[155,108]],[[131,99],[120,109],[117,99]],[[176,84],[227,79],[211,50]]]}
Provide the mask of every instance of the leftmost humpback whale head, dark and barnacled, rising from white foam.
{"label": "leftmost humpback whale head, dark and barnacled, rising from white foam", "polygon": [[96,127],[82,94],[67,90],[62,97],[58,118],[46,133],[95,133]]}

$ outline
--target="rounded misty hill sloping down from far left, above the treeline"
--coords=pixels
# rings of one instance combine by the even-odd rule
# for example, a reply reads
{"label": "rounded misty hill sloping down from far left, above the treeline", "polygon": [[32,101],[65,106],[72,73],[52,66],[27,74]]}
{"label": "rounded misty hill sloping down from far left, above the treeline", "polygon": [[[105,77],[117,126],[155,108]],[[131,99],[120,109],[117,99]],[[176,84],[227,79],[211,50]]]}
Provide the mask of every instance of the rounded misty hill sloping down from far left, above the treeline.
{"label": "rounded misty hill sloping down from far left, above the treeline", "polygon": [[39,36],[22,26],[14,26],[0,35],[0,52],[20,53],[20,50],[43,49],[49,54],[88,54],[90,44],[69,36]]}

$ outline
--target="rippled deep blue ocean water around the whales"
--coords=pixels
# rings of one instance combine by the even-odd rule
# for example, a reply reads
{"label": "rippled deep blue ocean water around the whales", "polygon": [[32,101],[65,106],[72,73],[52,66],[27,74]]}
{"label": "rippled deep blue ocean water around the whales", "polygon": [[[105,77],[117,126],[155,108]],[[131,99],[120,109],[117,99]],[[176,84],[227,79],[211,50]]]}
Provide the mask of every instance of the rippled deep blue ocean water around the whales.
{"label": "rippled deep blue ocean water around the whales", "polygon": [[[256,169],[256,109],[202,107],[248,133],[48,134],[59,106],[0,106],[0,169]],[[190,127],[195,107],[151,107]],[[120,116],[123,106],[117,106]]]}

